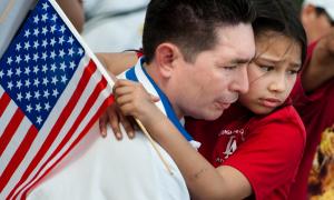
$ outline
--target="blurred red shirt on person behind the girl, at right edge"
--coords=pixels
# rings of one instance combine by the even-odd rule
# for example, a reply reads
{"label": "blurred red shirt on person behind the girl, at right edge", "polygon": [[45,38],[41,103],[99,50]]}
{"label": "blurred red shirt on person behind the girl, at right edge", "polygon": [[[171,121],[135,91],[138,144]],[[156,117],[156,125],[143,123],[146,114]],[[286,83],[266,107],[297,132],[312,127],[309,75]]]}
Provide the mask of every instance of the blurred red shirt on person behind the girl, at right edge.
{"label": "blurred red shirt on person behind the girl, at right edge", "polygon": [[[308,47],[312,59],[316,43]],[[298,79],[292,92],[293,103],[306,128],[306,147],[296,183],[289,199],[307,199],[307,179],[322,132],[334,123],[334,79],[325,82],[312,93],[305,94]]]}

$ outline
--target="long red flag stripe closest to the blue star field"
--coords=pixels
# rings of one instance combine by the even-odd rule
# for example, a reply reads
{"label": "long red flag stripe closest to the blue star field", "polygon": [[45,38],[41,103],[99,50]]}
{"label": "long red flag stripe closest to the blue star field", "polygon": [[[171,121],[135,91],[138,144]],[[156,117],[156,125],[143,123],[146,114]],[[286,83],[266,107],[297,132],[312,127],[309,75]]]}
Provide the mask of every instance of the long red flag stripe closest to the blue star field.
{"label": "long red flag stripe closest to the blue star field", "polygon": [[[85,87],[88,83],[88,80],[90,76],[95,72],[96,66],[94,62],[89,62],[89,64],[85,68],[84,74],[81,79],[79,80],[78,88],[75,91],[73,96],[70,98],[68,104],[62,110],[59,120],[51,129],[51,132],[48,134],[46,141],[43,142],[42,147],[37,152],[33,160],[30,162],[29,167],[24,171],[23,176],[21,177],[20,181],[17,183],[12,192],[23,182],[27,180],[29,174],[32,172],[32,170],[36,168],[36,166],[39,163],[39,161],[43,158],[45,153],[48,151],[49,147],[52,144],[53,140],[58,136],[58,132],[60,131],[61,127],[65,124],[66,120],[68,119],[69,114],[71,113],[72,109],[75,108],[78,99],[80,98],[80,94],[84,92]],[[12,192],[10,192],[12,194]],[[11,196],[9,196],[11,197]]]}

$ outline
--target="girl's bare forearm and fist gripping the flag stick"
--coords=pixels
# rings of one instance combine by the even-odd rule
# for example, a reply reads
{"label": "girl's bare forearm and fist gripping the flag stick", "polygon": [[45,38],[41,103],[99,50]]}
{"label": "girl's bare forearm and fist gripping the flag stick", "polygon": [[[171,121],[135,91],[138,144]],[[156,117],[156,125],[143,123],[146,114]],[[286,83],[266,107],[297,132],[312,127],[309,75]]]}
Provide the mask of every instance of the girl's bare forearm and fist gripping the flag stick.
{"label": "girl's bare forearm and fist gripping the flag stick", "polygon": [[248,180],[232,167],[215,169],[180,134],[153,103],[140,83],[118,80],[116,102],[125,116],[134,116],[171,156],[183,173],[193,199],[244,199],[252,194]]}

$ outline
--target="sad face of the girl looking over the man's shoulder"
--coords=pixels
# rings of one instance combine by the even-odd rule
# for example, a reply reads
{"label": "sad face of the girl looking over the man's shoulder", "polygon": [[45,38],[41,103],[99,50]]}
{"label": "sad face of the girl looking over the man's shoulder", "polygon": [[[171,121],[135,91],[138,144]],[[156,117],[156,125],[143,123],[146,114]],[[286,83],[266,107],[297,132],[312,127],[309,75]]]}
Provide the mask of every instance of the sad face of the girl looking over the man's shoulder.
{"label": "sad face of the girl looking over the man's shoulder", "polygon": [[301,46],[277,32],[255,38],[256,56],[248,67],[249,91],[239,102],[256,114],[267,114],[289,96],[302,66]]}

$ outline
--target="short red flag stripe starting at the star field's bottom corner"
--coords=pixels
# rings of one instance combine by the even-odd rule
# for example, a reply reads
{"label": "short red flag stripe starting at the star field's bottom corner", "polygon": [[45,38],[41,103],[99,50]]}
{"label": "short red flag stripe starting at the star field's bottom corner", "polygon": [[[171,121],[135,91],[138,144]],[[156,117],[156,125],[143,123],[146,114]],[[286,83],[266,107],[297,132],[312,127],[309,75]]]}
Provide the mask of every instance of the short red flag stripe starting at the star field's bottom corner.
{"label": "short red flag stripe starting at the star field's bottom corner", "polygon": [[3,190],[4,186],[7,184],[7,182],[9,181],[11,176],[13,174],[17,167],[23,160],[27,151],[30,148],[30,143],[35,140],[37,133],[38,133],[38,130],[33,126],[31,126],[29,128],[23,141],[21,142],[20,147],[18,148],[14,156],[10,160],[9,164],[4,169],[2,176],[0,177],[0,192]]}

